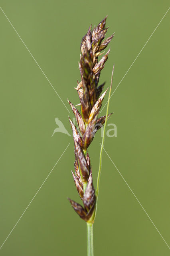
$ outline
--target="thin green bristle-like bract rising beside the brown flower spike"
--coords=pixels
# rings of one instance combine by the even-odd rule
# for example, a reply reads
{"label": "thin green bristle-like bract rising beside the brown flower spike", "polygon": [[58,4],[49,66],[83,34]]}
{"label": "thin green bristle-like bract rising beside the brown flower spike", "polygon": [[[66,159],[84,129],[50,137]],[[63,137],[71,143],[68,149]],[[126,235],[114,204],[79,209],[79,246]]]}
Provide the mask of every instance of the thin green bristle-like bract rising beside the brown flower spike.
{"label": "thin green bristle-like bract rising beside the brown flower spike", "polygon": [[[110,102],[110,98],[111,98],[111,89],[112,89],[112,83],[113,83],[114,66],[115,66],[115,65],[113,65],[113,70],[112,70],[111,86],[110,86],[110,90],[109,90],[109,97],[108,97],[107,110],[106,110],[106,119],[105,119],[105,124],[104,124],[104,128],[103,128],[103,139],[102,139],[101,149],[100,149],[99,171],[98,171],[98,175],[97,175],[97,188],[96,188],[95,216],[96,216],[96,212],[97,212],[97,200],[98,200],[98,196],[99,196],[99,182],[100,182],[100,176],[101,176],[102,152],[103,152],[103,146],[104,146],[104,141],[105,141],[105,130],[106,130],[106,124],[107,124],[108,111],[109,111],[109,102]],[[94,218],[94,219],[95,219],[95,218]]]}

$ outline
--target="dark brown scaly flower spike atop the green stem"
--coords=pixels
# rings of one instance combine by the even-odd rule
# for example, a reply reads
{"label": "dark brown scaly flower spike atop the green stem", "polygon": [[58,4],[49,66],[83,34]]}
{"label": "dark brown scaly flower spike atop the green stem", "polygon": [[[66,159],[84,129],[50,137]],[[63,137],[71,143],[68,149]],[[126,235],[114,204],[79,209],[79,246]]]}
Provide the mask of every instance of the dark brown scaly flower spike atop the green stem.
{"label": "dark brown scaly flower spike atop the green stem", "polygon": [[[71,199],[69,199],[69,201],[75,212],[77,212],[83,220],[92,223],[94,220],[93,213],[95,210],[96,197],[87,148],[91,144],[97,130],[105,123],[105,116],[98,118],[98,114],[107,90],[100,96],[104,84],[98,86],[98,83],[101,70],[105,66],[110,49],[100,61],[98,57],[103,54],[101,51],[107,47],[114,36],[113,34],[103,41],[108,30],[108,28],[105,28],[106,18],[104,18],[93,31],[91,31],[90,26],[87,34],[81,41],[81,57],[79,63],[81,82],[79,83],[77,81],[77,88],[75,88],[79,95],[81,114],[77,108],[68,101],[80,131],[77,130],[75,124],[73,124],[69,118],[75,146],[75,174],[73,172],[72,174],[84,207]],[[108,117],[110,115],[111,114],[109,114]]]}

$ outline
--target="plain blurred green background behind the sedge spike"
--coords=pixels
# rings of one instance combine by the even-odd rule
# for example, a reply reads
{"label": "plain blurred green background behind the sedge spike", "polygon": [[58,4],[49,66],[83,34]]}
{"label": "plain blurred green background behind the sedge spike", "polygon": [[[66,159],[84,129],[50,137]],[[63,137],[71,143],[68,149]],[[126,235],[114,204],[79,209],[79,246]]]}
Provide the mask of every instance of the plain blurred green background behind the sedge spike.
{"label": "plain blurred green background behind the sedge spike", "polygon": [[[73,87],[80,80],[80,42],[89,25],[109,15],[107,36],[115,32],[115,38],[100,83],[109,86],[115,63],[114,90],[169,4],[168,0],[0,2],[70,112],[67,98],[78,103]],[[117,138],[105,139],[105,150],[168,244],[169,19],[170,11],[111,98],[114,114],[109,122],[117,125]],[[69,196],[79,202],[70,172],[73,139],[62,133],[51,137],[57,127],[55,117],[71,133],[69,112],[1,10],[0,28],[0,244],[70,143],[0,255],[84,256],[86,224],[67,201]],[[95,185],[99,142],[100,132],[89,148]],[[170,252],[105,152],[94,250],[95,256],[167,256]]]}

